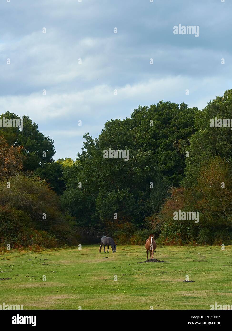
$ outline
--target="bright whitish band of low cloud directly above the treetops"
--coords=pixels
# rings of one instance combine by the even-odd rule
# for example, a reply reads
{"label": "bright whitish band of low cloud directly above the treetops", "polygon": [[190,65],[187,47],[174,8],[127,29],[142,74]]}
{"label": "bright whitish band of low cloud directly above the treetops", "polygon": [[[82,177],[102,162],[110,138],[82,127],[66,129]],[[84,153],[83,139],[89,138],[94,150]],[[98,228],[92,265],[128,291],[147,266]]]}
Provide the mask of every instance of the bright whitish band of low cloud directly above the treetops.
{"label": "bright whitish band of low cloud directly above the treetops", "polygon": [[[97,137],[107,120],[129,117],[139,104],[150,106],[162,99],[176,103],[184,101],[189,107],[202,109],[216,95],[223,94],[223,88],[218,88],[223,84],[224,80],[218,80],[218,77],[199,82],[179,75],[124,86],[99,85],[65,94],[3,96],[0,104],[3,113],[11,110],[19,116],[26,114],[38,124],[40,131],[52,137],[56,159],[75,158],[77,151],[81,151],[83,134],[89,132]],[[189,89],[188,96],[185,95],[186,89]],[[82,126],[78,126],[78,120],[82,121]]]}

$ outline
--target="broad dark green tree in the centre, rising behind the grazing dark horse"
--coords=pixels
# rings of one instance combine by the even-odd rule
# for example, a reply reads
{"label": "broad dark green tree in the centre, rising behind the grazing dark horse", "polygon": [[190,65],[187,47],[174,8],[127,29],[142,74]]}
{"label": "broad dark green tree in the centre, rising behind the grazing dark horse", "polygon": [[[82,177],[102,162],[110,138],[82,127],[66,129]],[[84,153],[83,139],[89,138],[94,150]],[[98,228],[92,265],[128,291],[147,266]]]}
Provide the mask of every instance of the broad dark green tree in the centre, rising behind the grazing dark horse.
{"label": "broad dark green tree in the centre, rising behind the grazing dark horse", "polygon": [[[61,197],[63,207],[76,217],[78,226],[106,227],[117,221],[142,226],[149,208],[153,212],[158,208],[155,196],[165,191],[162,186],[156,190],[161,176],[154,154],[136,148],[132,132],[121,120],[107,123],[99,139],[84,137],[83,152],[77,155],[79,162],[73,165]],[[103,158],[108,148],[128,150],[129,160]]]}

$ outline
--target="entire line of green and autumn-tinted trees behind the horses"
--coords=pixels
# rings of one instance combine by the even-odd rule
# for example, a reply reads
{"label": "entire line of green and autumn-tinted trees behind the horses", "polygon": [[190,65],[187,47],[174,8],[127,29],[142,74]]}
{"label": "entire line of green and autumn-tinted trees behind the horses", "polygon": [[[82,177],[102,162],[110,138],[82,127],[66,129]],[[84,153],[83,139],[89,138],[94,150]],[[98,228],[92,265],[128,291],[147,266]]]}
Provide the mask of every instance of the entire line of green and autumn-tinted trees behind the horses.
{"label": "entire line of green and autumn-tinted trees behind the horses", "polygon": [[[14,247],[98,242],[231,244],[232,90],[203,110],[160,101],[84,135],[75,161],[54,161],[54,141],[23,116],[0,127],[0,242]],[[1,118],[19,118],[7,112]],[[129,158],[103,151],[128,150]],[[46,156],[44,156],[46,152]],[[8,183],[8,185],[7,185]],[[10,184],[10,187],[9,187]],[[199,212],[199,222],[173,213]]]}

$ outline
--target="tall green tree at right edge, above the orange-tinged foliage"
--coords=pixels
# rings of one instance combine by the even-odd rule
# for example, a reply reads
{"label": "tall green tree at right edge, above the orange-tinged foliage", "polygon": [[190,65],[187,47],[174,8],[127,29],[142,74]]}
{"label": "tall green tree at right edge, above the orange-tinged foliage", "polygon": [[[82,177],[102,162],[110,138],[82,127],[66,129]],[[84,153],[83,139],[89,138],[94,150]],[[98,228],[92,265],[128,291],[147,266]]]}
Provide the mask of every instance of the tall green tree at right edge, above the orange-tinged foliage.
{"label": "tall green tree at right edge, above the orange-tinged foliage", "polygon": [[186,158],[183,185],[191,187],[197,182],[201,166],[215,156],[225,158],[232,165],[232,130],[230,127],[210,127],[210,119],[232,118],[232,89],[222,97],[210,101],[202,110],[196,112],[196,133],[190,138],[189,158]]}

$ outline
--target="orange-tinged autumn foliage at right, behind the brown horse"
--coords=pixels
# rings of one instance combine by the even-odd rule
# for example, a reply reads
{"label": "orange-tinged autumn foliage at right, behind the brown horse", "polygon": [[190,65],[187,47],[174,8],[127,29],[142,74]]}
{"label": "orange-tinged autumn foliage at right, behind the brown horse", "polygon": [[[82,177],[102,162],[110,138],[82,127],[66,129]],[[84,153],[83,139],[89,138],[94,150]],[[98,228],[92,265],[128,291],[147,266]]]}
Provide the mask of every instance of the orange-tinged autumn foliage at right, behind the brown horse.
{"label": "orange-tinged autumn foliage at right, behind the brown horse", "polygon": [[[172,188],[152,229],[161,230],[165,244],[231,244],[232,179],[229,165],[220,157],[203,166],[193,188]],[[173,212],[199,212],[199,222],[174,220]],[[159,226],[161,224],[161,226]]]}

